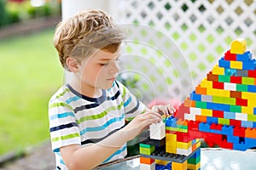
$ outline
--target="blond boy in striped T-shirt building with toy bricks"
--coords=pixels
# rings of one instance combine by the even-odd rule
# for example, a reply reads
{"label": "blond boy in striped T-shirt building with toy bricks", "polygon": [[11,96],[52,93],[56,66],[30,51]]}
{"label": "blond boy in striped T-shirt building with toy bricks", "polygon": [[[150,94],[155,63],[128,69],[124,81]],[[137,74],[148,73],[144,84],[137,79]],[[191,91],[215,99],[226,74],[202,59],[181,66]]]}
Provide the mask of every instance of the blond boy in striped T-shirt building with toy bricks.
{"label": "blond boy in striped T-shirt building with toy bricks", "polygon": [[[160,122],[125,86],[115,81],[123,32],[101,10],[62,21],[54,45],[72,80],[49,100],[49,130],[56,169],[91,169],[124,158],[126,142]],[[162,113],[171,107],[155,107]],[[141,114],[143,113],[143,114]],[[125,118],[133,118],[125,126]]]}

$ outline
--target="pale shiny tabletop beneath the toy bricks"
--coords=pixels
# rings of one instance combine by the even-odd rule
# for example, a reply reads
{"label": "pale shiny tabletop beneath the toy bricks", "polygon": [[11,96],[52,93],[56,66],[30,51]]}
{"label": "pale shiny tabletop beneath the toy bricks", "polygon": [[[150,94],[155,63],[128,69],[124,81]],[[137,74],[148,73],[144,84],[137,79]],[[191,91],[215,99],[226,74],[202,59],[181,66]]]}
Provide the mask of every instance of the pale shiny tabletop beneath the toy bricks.
{"label": "pale shiny tabletop beneath the toy bricks", "polygon": [[[139,157],[112,163],[101,170],[139,170]],[[238,151],[222,149],[201,149],[201,169],[202,170],[253,170],[256,169],[255,150]]]}

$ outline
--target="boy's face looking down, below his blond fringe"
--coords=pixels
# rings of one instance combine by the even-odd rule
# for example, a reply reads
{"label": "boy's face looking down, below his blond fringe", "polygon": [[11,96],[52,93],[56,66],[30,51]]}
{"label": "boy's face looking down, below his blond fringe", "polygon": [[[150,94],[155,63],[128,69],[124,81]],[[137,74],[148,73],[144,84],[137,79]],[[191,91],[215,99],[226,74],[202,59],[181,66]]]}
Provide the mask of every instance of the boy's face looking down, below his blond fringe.
{"label": "boy's face looking down, below his blond fringe", "polygon": [[99,50],[92,57],[82,60],[81,83],[83,87],[108,89],[118,75],[120,50],[115,53]]}

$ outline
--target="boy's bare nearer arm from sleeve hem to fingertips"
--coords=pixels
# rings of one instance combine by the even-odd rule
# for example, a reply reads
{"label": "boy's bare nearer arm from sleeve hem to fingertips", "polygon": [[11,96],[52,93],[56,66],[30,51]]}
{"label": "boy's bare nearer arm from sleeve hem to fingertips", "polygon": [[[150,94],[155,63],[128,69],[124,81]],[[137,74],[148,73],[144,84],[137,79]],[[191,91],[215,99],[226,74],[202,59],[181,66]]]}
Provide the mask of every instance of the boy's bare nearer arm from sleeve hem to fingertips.
{"label": "boy's bare nearer arm from sleeve hem to fingertips", "polygon": [[146,111],[136,116],[128,125],[103,139],[101,142],[81,147],[79,144],[61,147],[61,156],[70,170],[85,170],[96,167],[119,150],[127,141],[134,139],[150,124],[160,122],[161,116],[154,111]]}

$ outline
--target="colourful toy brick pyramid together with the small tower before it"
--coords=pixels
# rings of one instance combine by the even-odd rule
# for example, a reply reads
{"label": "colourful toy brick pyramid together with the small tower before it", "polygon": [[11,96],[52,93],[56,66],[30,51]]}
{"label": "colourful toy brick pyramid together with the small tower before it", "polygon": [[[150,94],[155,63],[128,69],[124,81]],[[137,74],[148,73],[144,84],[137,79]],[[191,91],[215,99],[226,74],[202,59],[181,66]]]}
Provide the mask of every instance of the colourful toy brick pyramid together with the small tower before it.
{"label": "colourful toy brick pyramid together with the small tower before it", "polygon": [[200,139],[209,147],[255,147],[256,60],[246,42],[233,41],[174,115],[151,125],[150,133],[140,144],[142,170],[200,169]]}

